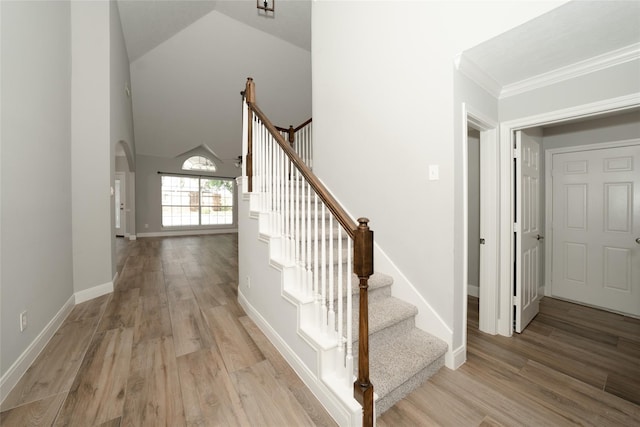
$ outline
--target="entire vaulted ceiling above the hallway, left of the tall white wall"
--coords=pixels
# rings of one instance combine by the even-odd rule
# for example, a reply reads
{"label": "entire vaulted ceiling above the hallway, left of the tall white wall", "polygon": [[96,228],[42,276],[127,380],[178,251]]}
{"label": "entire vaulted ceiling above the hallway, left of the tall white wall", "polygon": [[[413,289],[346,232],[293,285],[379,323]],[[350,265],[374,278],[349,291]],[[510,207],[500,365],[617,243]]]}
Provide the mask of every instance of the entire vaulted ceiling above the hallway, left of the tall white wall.
{"label": "entire vaulted ceiling above the hallway, left of the tall white wall", "polygon": [[136,151],[176,157],[206,146],[241,154],[247,77],[276,125],[311,117],[311,3],[118,0],[130,59]]}

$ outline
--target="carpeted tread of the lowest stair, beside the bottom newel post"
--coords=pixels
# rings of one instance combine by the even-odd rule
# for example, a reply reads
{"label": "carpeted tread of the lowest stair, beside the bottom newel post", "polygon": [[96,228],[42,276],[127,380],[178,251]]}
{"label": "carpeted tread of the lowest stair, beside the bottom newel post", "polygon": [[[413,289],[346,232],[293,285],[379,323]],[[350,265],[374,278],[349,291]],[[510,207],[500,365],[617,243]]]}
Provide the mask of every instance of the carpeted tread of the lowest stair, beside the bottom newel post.
{"label": "carpeted tread of the lowest stair, beside the bottom newel post", "polygon": [[400,334],[385,346],[369,349],[371,383],[379,398],[440,359],[447,344],[421,329]]}

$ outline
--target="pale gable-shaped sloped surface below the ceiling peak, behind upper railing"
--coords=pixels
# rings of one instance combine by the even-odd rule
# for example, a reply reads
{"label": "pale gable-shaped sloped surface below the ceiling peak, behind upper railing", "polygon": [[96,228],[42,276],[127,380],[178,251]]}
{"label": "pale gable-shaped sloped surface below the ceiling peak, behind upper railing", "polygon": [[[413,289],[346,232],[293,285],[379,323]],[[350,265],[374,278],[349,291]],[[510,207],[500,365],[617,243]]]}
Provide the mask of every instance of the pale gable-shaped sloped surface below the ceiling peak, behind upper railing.
{"label": "pale gable-shaped sloped surface below the ceiling peak, behind upper railing", "polygon": [[133,61],[137,153],[172,158],[206,144],[224,160],[236,158],[247,77],[276,125],[311,117],[309,51],[219,12]]}

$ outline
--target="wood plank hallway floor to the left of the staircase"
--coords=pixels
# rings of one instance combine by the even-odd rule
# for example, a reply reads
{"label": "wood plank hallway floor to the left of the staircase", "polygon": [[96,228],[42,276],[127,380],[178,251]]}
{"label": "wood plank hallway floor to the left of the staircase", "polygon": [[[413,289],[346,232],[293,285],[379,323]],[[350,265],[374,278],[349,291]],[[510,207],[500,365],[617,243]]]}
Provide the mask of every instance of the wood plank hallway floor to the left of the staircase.
{"label": "wood plank hallway floor to the left of the staircase", "polygon": [[79,304],[2,426],[335,426],[237,303],[237,236],[117,239],[112,295]]}

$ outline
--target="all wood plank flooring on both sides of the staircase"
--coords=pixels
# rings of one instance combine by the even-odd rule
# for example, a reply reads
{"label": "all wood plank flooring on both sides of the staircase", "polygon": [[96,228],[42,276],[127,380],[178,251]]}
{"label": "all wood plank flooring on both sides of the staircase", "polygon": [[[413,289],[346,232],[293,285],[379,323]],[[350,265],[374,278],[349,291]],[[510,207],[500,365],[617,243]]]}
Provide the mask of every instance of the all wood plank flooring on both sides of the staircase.
{"label": "all wood plank flooring on both sides of the staircase", "polygon": [[[2,426],[335,425],[237,304],[237,236],[118,240],[112,295],[79,304],[0,406]],[[478,331],[378,426],[640,425],[640,321],[545,298]]]}

